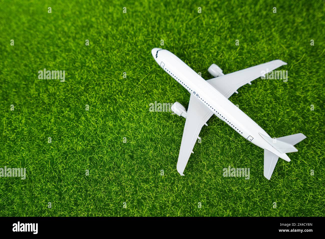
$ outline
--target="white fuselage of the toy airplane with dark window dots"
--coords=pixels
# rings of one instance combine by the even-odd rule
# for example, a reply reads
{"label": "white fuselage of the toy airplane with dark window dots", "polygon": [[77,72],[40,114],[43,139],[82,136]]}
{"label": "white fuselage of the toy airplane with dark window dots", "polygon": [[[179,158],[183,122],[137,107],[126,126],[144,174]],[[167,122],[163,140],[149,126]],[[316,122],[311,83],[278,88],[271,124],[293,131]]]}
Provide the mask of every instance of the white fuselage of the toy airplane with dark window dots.
{"label": "white fuselage of the toy airplane with dark window dots", "polygon": [[200,100],[219,119],[232,127],[239,135],[260,148],[267,149],[280,158],[290,161],[285,153],[280,153],[259,135],[261,133],[270,137],[264,129],[177,56],[168,50],[160,48],[153,48],[151,53],[165,72],[187,89],[190,94],[193,94]]}

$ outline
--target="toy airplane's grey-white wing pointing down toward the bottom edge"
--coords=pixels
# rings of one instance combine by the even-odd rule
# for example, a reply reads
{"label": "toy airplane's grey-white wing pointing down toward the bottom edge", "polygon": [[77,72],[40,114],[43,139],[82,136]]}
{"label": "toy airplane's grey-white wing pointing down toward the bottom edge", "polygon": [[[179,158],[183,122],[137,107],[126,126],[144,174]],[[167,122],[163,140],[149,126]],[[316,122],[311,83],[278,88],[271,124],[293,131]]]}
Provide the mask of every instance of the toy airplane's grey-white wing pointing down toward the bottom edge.
{"label": "toy airplane's grey-white wing pointing down toward the bottom edge", "polygon": [[184,169],[189,156],[193,153],[193,148],[199,137],[201,128],[204,124],[206,125],[206,122],[212,115],[213,112],[191,94],[176,167],[180,175],[184,176]]}

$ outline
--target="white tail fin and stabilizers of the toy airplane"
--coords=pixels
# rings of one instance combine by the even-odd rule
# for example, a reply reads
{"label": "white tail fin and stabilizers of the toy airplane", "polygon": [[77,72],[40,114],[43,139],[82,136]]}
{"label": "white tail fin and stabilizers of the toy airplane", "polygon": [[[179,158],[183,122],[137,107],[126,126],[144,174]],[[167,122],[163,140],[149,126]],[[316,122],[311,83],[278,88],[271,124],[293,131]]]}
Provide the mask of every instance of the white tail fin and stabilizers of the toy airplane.
{"label": "white tail fin and stabilizers of the toy airplane", "polygon": [[[262,136],[263,139],[265,139],[269,144],[273,146],[273,148],[278,150],[280,153],[297,152],[298,150],[293,145],[299,143],[301,140],[306,138],[306,136],[302,133],[292,134],[277,139],[272,139],[262,134],[260,135]],[[289,157],[286,154],[285,156],[288,159],[285,160],[290,161]],[[270,180],[272,176],[273,170],[275,168],[275,165],[278,162],[278,159],[279,156],[264,149],[264,177],[266,177],[268,180]]]}

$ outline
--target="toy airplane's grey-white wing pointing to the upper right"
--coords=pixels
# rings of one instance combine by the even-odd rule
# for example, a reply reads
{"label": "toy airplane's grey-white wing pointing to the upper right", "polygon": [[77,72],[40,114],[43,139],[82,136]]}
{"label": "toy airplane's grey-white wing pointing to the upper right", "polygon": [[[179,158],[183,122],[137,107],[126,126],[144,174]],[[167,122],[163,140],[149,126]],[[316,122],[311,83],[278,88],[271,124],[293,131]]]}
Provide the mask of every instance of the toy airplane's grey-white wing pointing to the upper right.
{"label": "toy airplane's grey-white wing pointing to the upper right", "polygon": [[265,75],[265,73],[261,73],[262,71],[269,73],[270,71],[286,64],[287,63],[282,60],[272,60],[264,64],[212,78],[207,80],[207,82],[228,99],[233,93],[236,92],[238,94],[237,89],[241,86],[247,83],[251,85],[251,81]]}

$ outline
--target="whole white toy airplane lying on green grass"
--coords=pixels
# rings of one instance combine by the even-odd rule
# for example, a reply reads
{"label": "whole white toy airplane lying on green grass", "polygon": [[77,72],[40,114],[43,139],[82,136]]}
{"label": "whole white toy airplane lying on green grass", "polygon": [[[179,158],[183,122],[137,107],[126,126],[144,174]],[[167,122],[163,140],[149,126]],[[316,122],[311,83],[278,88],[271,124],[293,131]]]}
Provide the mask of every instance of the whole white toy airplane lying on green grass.
{"label": "whole white toy airplane lying on green grass", "polygon": [[[168,50],[153,48],[151,54],[162,69],[191,94],[187,112],[179,102],[175,102],[172,106],[173,112],[186,118],[176,167],[180,175],[184,176],[184,169],[190,154],[193,153],[193,147],[201,128],[203,125],[207,126],[206,122],[213,114],[242,137],[264,149],[264,176],[267,179],[271,178],[279,157],[290,162],[286,153],[297,152],[298,150],[293,145],[306,138],[305,135],[299,133],[273,139],[228,100],[234,92],[238,94],[237,89],[241,86],[247,83],[251,85],[254,79],[286,65],[286,62],[272,60],[227,75],[222,73],[220,67],[212,64],[208,71],[215,78],[206,81]],[[263,74],[262,71],[264,71]]]}

